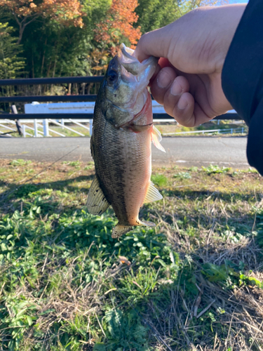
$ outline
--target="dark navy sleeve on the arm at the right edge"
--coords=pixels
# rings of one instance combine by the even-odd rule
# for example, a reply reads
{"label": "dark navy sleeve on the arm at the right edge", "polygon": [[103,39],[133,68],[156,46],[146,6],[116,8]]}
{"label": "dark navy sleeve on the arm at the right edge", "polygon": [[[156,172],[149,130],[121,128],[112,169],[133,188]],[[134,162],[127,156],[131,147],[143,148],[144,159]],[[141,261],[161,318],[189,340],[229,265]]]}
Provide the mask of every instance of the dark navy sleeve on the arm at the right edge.
{"label": "dark navy sleeve on the arm at the right edge", "polygon": [[250,0],[222,72],[227,100],[249,126],[247,157],[263,176],[263,1]]}

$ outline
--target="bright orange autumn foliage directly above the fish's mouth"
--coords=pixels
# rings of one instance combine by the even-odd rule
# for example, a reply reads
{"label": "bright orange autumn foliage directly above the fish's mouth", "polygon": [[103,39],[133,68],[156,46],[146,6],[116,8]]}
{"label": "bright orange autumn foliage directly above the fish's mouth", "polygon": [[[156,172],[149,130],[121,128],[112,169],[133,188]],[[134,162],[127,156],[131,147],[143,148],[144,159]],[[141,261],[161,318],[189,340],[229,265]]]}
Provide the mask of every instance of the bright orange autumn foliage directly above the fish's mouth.
{"label": "bright orange autumn foliage directly above the fish's mouth", "polygon": [[140,39],[140,27],[133,27],[138,20],[134,12],[137,6],[137,0],[112,0],[107,18],[97,25],[95,40],[109,45],[112,55],[116,54],[123,37],[130,41],[131,48],[135,48]]}

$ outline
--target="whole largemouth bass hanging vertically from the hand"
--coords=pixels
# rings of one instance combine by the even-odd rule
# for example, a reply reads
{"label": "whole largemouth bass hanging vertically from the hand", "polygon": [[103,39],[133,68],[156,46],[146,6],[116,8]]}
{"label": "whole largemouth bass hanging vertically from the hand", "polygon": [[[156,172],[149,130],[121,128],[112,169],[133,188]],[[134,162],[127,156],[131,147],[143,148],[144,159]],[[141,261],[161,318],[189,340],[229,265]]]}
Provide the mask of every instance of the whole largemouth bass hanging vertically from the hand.
{"label": "whole largemouth bass hanging vertically from the hand", "polygon": [[163,198],[151,183],[151,142],[165,152],[161,133],[153,125],[147,89],[157,63],[153,56],[140,62],[135,51],[121,44],[97,94],[90,138],[95,178],[87,206],[93,215],[112,206],[119,220],[112,238],[137,225],[154,227],[139,219],[139,211],[143,204]]}

